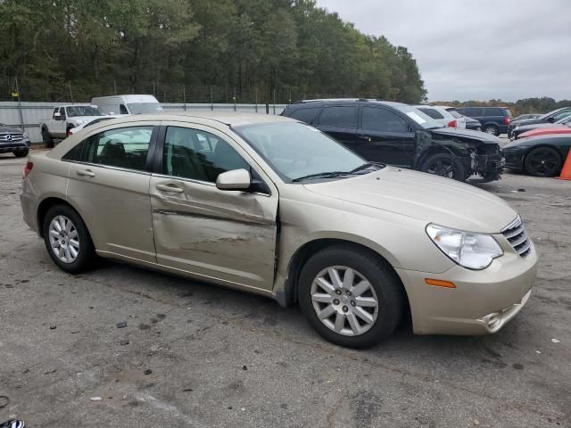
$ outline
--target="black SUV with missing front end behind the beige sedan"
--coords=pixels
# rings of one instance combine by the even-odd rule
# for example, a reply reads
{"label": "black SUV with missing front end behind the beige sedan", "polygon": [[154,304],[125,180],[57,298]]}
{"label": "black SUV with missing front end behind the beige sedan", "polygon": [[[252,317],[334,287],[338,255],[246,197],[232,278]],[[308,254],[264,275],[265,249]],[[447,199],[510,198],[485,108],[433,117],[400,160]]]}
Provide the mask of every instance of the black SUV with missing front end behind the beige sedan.
{"label": "black SUV with missing front end behind the beige sedan", "polygon": [[460,181],[500,178],[500,140],[484,133],[442,128],[407,104],[373,100],[310,100],[288,106],[283,116],[333,136],[368,161],[417,169]]}

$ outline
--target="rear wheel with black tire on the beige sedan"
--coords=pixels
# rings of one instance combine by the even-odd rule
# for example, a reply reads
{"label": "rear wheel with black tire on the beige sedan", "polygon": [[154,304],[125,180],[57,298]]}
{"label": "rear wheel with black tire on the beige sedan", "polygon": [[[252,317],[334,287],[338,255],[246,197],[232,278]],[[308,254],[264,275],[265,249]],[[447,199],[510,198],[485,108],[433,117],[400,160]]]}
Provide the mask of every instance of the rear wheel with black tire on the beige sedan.
{"label": "rear wheel with black tire on the beige sedan", "polygon": [[[63,230],[67,230],[69,233],[64,233],[55,238],[53,232],[58,231],[55,223],[62,229],[62,226],[68,224],[67,222],[70,222],[71,226],[69,229]],[[46,212],[43,230],[47,252],[59,268],[70,274],[78,274],[91,267],[96,257],[95,248],[85,223],[75,210],[68,205],[54,205],[54,207]],[[50,235],[51,233],[53,235]],[[54,242],[58,243],[56,244]],[[62,242],[64,243],[63,245],[60,244]],[[75,245],[74,242],[77,242],[77,245]],[[62,248],[62,255],[55,253],[53,245]],[[65,251],[66,248],[67,251]],[[77,249],[75,257],[73,257],[73,250],[71,248]],[[62,259],[62,257],[66,258],[68,255],[70,255],[70,258],[67,261]]]}

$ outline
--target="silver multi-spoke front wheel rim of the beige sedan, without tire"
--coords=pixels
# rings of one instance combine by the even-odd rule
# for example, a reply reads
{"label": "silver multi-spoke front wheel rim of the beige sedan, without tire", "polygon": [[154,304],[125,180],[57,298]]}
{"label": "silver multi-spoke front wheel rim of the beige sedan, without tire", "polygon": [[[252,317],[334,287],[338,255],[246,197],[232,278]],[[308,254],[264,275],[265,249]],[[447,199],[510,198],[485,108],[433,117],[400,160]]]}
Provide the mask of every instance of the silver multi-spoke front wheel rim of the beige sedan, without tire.
{"label": "silver multi-spoke front wheel rim of the beige sedan, without tire", "polygon": [[355,269],[323,269],[313,280],[310,295],[319,320],[335,333],[358,336],[377,322],[377,293]]}

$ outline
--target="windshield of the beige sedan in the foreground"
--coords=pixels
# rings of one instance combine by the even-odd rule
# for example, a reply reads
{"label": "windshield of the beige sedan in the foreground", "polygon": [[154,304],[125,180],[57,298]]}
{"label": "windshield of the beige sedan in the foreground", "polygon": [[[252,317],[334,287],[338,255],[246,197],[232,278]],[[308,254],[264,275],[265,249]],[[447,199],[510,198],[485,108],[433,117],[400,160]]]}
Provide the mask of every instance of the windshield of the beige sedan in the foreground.
{"label": "windshield of the beige sedan in the foreground", "polygon": [[346,178],[381,168],[302,123],[277,122],[234,129],[286,183]]}

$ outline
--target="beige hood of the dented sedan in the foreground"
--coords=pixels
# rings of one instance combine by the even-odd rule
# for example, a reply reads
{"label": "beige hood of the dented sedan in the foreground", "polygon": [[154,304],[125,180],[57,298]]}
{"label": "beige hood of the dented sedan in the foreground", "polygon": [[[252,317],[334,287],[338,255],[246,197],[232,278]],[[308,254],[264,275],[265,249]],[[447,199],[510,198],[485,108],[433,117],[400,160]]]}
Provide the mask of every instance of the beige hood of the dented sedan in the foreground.
{"label": "beige hood of the dented sedan in the foreground", "polygon": [[408,169],[386,167],[304,187],[322,196],[470,232],[498,234],[517,217],[515,210],[492,193]]}

